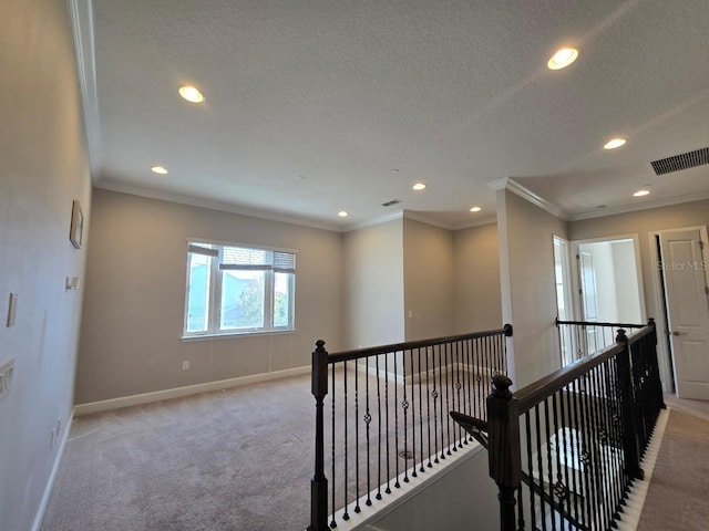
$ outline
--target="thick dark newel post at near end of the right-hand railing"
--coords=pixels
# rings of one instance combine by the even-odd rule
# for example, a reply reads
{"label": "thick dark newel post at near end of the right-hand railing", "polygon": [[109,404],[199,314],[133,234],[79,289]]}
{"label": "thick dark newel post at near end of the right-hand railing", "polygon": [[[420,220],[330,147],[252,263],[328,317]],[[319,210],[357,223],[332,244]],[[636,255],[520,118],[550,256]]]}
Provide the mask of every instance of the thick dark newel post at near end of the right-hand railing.
{"label": "thick dark newel post at near end of the right-hand railing", "polygon": [[517,399],[510,391],[512,381],[504,374],[496,374],[492,385],[493,392],[487,397],[490,477],[500,490],[500,529],[514,531],[515,492],[522,480],[520,414]]}

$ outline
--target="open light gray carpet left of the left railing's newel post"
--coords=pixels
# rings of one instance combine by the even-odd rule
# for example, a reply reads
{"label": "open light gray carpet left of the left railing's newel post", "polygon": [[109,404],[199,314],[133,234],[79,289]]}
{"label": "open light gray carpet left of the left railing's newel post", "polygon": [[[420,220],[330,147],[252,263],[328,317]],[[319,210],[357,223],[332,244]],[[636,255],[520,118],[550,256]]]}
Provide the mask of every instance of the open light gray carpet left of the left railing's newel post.
{"label": "open light gray carpet left of the left railing's newel post", "polygon": [[41,529],[302,531],[314,426],[309,375],[80,417]]}

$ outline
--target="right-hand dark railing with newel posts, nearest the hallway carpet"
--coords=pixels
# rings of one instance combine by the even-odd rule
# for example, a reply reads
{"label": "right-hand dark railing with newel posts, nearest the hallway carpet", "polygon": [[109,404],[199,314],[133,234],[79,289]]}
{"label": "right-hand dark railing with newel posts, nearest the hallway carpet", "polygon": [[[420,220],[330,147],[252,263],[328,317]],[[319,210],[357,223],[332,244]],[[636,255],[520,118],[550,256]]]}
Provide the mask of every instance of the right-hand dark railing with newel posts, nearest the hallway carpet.
{"label": "right-hand dark railing with newel posts, nearest the hallway carpet", "polygon": [[[616,326],[616,325],[614,325]],[[512,393],[494,376],[487,419],[452,413],[489,447],[501,530],[615,527],[665,407],[649,325]]]}

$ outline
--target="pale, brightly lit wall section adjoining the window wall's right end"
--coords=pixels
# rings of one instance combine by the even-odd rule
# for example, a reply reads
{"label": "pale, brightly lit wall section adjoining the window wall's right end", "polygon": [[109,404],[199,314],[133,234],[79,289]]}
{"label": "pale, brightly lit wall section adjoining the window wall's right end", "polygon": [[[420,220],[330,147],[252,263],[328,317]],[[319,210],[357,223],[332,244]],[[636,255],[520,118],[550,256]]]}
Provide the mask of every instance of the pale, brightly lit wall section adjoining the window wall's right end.
{"label": "pale, brightly lit wall section adjoining the window wall's right end", "polygon": [[346,348],[404,341],[403,219],[348,232],[343,242]]}

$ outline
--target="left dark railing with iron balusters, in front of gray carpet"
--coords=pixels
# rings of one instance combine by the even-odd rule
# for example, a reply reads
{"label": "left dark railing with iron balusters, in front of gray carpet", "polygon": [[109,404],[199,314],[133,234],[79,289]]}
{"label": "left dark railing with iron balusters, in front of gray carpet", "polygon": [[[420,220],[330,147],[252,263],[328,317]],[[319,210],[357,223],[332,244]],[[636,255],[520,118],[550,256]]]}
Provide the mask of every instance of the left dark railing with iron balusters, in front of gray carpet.
{"label": "left dark railing with iron balusters, in front of gray carpet", "polygon": [[491,378],[507,373],[510,335],[512,326],[505,325],[336,354],[318,341],[312,353],[316,449],[308,529],[336,528],[340,519],[361,512],[362,504],[383,504],[402,482],[470,445],[449,412],[486,418]]}

